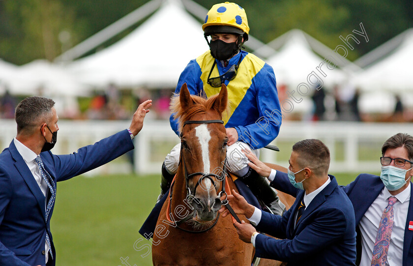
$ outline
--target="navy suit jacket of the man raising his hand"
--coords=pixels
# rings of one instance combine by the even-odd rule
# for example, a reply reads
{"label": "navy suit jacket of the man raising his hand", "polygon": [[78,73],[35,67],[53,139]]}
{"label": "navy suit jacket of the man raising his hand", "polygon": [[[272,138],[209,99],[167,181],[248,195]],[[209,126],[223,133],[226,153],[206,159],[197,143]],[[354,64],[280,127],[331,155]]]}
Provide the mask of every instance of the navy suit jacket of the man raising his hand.
{"label": "navy suit jacket of the man raising his hand", "polygon": [[[45,151],[40,157],[56,186],[57,181],[83,174],[133,148],[129,132],[123,130],[94,145],[80,148],[77,153],[54,155]],[[44,266],[46,232],[55,258],[51,265],[56,264],[50,218],[46,223],[45,212],[45,197],[12,141],[0,154],[1,266]]]}

